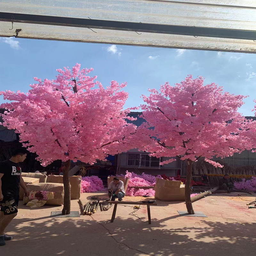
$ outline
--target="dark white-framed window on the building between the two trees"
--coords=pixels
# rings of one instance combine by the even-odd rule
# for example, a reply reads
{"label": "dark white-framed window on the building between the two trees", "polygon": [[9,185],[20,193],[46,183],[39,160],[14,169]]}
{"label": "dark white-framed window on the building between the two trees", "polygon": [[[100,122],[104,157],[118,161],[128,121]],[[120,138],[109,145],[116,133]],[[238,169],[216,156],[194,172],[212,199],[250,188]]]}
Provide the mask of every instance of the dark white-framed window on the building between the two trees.
{"label": "dark white-framed window on the building between the two trees", "polygon": [[148,154],[127,154],[127,166],[159,168],[160,158]]}

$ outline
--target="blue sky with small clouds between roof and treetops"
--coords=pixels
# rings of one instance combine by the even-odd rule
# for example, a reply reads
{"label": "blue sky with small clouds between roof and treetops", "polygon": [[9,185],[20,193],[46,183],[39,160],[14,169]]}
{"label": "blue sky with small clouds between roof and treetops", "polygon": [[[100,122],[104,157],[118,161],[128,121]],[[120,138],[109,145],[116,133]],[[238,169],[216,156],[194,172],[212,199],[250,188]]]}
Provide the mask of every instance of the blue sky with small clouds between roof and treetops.
{"label": "blue sky with small clouds between roof and treetops", "polygon": [[71,68],[78,62],[83,68],[94,68],[91,75],[97,75],[104,86],[111,80],[127,82],[126,108],[142,103],[140,96],[148,94],[148,88],[159,89],[165,81],[173,85],[192,74],[230,93],[250,95],[240,112],[254,115],[254,54],[0,38],[0,59],[1,91],[27,92],[34,76],[53,79],[57,68]]}

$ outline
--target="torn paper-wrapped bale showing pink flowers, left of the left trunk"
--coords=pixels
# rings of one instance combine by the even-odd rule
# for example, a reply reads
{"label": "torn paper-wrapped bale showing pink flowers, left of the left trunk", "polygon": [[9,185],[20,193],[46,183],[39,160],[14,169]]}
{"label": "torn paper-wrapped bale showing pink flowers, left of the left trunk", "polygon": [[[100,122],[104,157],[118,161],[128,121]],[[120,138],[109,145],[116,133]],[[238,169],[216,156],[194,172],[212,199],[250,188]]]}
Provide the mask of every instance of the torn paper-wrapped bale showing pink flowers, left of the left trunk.
{"label": "torn paper-wrapped bale showing pink flowers, left of the left trunk", "polygon": [[46,201],[45,205],[62,205],[64,204],[64,187],[60,183],[38,183],[28,184],[29,196],[23,197],[23,203],[37,199]]}

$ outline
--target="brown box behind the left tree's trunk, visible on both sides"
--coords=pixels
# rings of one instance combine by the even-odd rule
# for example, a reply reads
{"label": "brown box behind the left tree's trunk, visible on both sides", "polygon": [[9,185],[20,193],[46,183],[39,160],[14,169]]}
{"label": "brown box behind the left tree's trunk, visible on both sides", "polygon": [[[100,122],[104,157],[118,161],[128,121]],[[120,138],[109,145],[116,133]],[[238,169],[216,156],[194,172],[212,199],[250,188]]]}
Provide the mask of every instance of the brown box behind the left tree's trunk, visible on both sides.
{"label": "brown box behind the left tree's trunk, visible on both sides", "polygon": [[[71,185],[71,200],[79,199],[81,193],[81,176],[70,176],[70,185]],[[63,184],[62,175],[48,175],[46,183],[61,183]]]}

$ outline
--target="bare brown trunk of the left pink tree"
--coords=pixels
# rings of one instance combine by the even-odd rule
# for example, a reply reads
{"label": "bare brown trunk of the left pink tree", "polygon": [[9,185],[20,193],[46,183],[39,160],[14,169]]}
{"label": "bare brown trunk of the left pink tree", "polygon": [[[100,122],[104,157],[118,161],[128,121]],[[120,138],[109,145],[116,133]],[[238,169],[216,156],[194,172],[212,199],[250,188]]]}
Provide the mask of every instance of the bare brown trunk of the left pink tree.
{"label": "bare brown trunk of the left pink tree", "polygon": [[70,193],[70,182],[69,182],[69,169],[70,160],[64,163],[63,168],[63,184],[64,184],[64,206],[62,210],[62,215],[70,214],[70,203],[71,203],[71,193]]}

